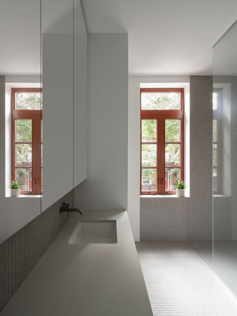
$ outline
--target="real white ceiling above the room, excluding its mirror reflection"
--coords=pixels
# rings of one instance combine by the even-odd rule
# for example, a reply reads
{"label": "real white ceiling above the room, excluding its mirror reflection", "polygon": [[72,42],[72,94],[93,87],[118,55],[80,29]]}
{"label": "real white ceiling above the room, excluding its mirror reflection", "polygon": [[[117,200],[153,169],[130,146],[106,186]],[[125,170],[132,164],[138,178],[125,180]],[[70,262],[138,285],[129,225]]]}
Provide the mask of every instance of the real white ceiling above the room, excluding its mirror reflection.
{"label": "real white ceiling above the room, excluding its mirror reflection", "polygon": [[88,33],[128,32],[130,75],[211,75],[236,0],[81,0]]}

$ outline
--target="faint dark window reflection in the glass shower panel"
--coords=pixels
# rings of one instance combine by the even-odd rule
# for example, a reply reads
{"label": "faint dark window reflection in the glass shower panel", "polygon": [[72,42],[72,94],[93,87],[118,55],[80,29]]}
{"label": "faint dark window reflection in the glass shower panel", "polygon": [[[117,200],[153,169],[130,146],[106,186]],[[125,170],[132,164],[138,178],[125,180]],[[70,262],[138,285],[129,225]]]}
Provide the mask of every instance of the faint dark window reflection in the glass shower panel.
{"label": "faint dark window reflection in the glass shower panel", "polygon": [[222,194],[222,89],[213,89],[213,194]]}

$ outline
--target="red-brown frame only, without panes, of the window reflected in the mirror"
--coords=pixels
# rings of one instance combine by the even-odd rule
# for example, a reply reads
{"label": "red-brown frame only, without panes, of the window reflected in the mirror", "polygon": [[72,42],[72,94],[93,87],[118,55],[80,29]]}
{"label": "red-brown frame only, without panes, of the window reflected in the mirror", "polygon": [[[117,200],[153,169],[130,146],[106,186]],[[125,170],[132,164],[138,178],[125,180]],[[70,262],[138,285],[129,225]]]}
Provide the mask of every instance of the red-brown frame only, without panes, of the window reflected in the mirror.
{"label": "red-brown frame only, without panes, of the window reflected in the mirror", "polygon": [[[42,110],[17,110],[15,109],[15,96],[17,92],[41,92],[41,88],[12,88],[11,90],[11,179],[16,179],[16,119],[32,120],[32,191],[31,194],[42,194],[41,191],[41,119]],[[22,167],[22,166],[21,166]],[[24,166],[24,168],[31,168]],[[21,194],[29,192],[22,190]]]}

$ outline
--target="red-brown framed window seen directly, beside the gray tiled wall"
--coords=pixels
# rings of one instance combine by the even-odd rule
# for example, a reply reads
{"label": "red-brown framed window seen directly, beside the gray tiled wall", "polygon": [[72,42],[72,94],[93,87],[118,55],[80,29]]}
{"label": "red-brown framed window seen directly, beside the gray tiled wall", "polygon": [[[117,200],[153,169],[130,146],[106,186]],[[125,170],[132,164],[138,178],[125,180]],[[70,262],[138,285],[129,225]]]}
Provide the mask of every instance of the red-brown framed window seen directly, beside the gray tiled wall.
{"label": "red-brown framed window seen directly, beside the gray tiled wall", "polygon": [[141,88],[140,100],[140,194],[175,194],[184,180],[184,89]]}

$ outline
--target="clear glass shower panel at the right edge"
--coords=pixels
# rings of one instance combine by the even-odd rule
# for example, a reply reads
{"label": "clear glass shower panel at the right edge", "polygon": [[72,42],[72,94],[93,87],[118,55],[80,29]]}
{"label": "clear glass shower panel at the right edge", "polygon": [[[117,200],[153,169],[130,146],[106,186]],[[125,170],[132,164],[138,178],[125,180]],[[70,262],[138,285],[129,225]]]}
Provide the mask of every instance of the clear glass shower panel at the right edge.
{"label": "clear glass shower panel at the right edge", "polygon": [[237,24],[213,48],[213,270],[237,295]]}

